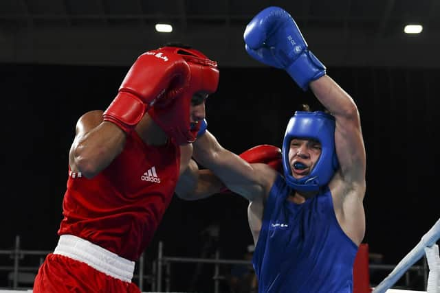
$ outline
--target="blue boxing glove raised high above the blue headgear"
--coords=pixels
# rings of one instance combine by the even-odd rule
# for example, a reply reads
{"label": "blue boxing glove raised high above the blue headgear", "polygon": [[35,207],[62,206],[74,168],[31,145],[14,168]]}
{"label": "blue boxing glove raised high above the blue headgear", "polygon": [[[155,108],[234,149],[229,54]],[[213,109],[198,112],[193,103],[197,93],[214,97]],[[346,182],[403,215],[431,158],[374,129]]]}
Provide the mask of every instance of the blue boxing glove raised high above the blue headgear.
{"label": "blue boxing glove raised high above the blue headgear", "polygon": [[285,69],[304,91],[325,75],[325,66],[307,48],[292,16],[279,7],[265,8],[246,26],[245,48],[255,60]]}

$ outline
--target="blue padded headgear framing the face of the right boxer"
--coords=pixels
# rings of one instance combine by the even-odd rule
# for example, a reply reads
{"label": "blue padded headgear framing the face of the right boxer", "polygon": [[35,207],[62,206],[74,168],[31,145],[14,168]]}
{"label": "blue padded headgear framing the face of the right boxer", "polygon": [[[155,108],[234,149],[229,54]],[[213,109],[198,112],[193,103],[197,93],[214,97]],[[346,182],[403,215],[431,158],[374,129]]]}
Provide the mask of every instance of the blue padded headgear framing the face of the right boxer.
{"label": "blue padded headgear framing the face of the right boxer", "polygon": [[[316,139],[321,143],[321,154],[310,174],[296,179],[289,164],[292,139]],[[335,150],[335,117],[325,112],[296,111],[287,124],[283,141],[283,169],[287,185],[299,191],[318,191],[329,183],[339,167]]]}

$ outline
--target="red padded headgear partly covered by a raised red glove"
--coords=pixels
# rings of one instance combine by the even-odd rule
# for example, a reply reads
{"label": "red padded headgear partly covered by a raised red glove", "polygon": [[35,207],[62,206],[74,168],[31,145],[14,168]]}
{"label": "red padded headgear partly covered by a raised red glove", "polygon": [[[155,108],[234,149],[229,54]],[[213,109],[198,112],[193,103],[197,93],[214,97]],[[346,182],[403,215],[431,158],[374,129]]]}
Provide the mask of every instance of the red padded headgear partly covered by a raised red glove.
{"label": "red padded headgear partly covered by a raised red glove", "polygon": [[217,62],[210,60],[200,51],[195,49],[183,49],[180,47],[162,47],[155,51],[164,54],[178,54],[190,67],[190,80],[181,94],[174,97],[170,102],[155,106],[148,110],[148,115],[155,123],[175,140],[179,145],[192,143],[197,137],[199,124],[191,128],[190,105],[192,95],[198,91],[214,93],[219,84],[219,69]]}

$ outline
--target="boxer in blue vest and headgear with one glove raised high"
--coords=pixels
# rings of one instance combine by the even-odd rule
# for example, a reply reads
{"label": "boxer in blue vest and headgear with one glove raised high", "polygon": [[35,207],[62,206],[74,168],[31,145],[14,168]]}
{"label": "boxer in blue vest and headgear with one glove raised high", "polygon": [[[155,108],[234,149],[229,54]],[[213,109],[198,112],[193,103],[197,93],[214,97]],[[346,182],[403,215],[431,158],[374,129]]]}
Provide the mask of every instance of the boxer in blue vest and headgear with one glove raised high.
{"label": "boxer in blue vest and headgear with one glove raised high", "polygon": [[252,58],[287,71],[331,115],[292,117],[283,174],[243,161],[208,130],[193,143],[193,158],[250,201],[259,292],[351,293],[353,261],[365,232],[366,156],[358,108],[282,8],[259,12],[244,39]]}

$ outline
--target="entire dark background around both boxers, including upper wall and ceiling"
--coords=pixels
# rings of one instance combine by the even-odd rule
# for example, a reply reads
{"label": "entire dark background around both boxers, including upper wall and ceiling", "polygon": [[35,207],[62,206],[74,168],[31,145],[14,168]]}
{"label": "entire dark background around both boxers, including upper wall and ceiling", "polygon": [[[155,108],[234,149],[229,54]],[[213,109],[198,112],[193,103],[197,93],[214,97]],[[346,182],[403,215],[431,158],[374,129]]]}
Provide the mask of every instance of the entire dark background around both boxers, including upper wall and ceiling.
{"label": "entire dark background around both boxers, including upper wall and ceiling", "polygon": [[[358,104],[367,154],[364,242],[383,263],[404,257],[440,215],[437,0],[1,0],[0,250],[13,248],[16,235],[25,249],[54,249],[76,120],[107,108],[136,56],[169,41],[219,62],[219,91],[207,115],[225,148],[281,145],[294,110],[315,99],[243,49],[245,25],[270,5],[292,14],[329,75]],[[173,32],[155,32],[159,22]],[[408,23],[422,24],[423,32],[403,34]],[[246,208],[232,194],[174,198],[146,250],[146,268],[160,240],[165,255],[210,257],[217,247],[221,258],[242,258],[252,243]],[[215,247],[207,245],[212,225],[219,226]],[[20,261],[36,266],[39,259]],[[0,256],[0,267],[11,263]],[[188,290],[197,266],[172,269],[173,290]],[[211,292],[212,272],[199,279]]]}

